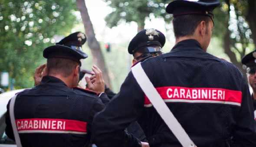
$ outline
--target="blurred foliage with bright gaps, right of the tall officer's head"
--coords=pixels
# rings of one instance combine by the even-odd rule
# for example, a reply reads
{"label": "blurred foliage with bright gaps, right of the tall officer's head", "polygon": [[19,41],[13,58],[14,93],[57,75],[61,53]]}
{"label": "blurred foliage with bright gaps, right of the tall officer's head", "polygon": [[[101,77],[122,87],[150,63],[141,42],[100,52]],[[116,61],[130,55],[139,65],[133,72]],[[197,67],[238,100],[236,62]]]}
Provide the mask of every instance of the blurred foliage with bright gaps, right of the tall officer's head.
{"label": "blurred foliage with bright gaps, right of the tall officer's head", "polygon": [[252,29],[246,21],[247,8],[246,0],[223,0],[219,10],[215,11],[217,28],[215,28],[214,36],[223,39],[224,52],[243,73],[245,70],[242,68],[241,58],[245,56],[249,46],[253,43]]}

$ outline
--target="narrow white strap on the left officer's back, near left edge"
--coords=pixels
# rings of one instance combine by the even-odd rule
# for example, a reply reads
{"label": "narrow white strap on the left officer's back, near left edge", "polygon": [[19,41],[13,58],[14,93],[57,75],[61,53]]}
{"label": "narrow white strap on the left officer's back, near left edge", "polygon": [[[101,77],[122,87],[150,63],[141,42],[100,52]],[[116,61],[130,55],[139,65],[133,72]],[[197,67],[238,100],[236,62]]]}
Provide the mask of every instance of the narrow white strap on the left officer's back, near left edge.
{"label": "narrow white strap on the left officer's back, near left edge", "polygon": [[13,127],[13,134],[15,137],[15,142],[17,147],[22,147],[21,142],[20,142],[20,136],[16,127],[16,122],[15,122],[15,117],[14,117],[14,104],[15,104],[15,100],[16,100],[17,95],[15,95],[11,101],[10,101],[10,106],[9,106],[9,110],[10,110],[10,119],[11,119],[11,124]]}

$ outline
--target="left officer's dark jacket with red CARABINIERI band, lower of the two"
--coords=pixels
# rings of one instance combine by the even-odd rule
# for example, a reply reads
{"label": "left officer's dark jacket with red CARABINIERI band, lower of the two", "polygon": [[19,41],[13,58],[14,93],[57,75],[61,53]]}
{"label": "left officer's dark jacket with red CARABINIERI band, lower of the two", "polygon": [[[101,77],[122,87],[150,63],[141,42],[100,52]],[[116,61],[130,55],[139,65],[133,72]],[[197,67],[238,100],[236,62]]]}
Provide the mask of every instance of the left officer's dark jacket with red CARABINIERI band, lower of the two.
{"label": "left officer's dark jacket with red CARABINIERI band, lower of the two", "polygon": [[[16,97],[14,114],[23,147],[85,147],[93,116],[109,102],[106,95],[101,97],[68,88],[59,78],[43,77],[40,85]],[[6,134],[14,139],[9,104]]]}

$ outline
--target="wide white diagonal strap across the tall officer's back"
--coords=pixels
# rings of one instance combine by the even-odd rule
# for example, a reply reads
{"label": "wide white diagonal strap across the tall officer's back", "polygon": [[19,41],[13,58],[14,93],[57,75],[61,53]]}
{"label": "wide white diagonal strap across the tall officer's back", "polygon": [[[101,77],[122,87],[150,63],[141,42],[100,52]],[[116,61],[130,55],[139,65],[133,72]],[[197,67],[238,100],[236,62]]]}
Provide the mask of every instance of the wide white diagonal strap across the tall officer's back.
{"label": "wide white diagonal strap across the tall officer's back", "polygon": [[184,128],[174,117],[170,109],[164,103],[163,99],[159,95],[158,91],[154,88],[150,79],[141,67],[141,63],[138,63],[131,68],[131,72],[135,77],[136,81],[140,85],[144,94],[151,101],[152,105],[167,124],[169,129],[173,132],[174,136],[179,140],[183,147],[196,147],[194,142],[190,139],[188,134],[185,132]]}

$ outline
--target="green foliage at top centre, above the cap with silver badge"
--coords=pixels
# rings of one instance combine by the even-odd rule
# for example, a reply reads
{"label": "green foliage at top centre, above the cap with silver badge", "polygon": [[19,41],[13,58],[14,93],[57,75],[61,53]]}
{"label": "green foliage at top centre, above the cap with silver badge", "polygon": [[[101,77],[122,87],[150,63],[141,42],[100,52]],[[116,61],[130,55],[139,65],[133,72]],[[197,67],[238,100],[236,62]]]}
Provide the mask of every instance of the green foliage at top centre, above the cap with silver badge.
{"label": "green foliage at top centre, above the cap with silver badge", "polygon": [[135,21],[138,26],[144,27],[145,18],[150,14],[164,19],[171,17],[165,12],[164,7],[170,0],[105,0],[105,2],[113,8],[112,13],[105,18],[107,25],[111,28],[117,26],[120,20]]}

